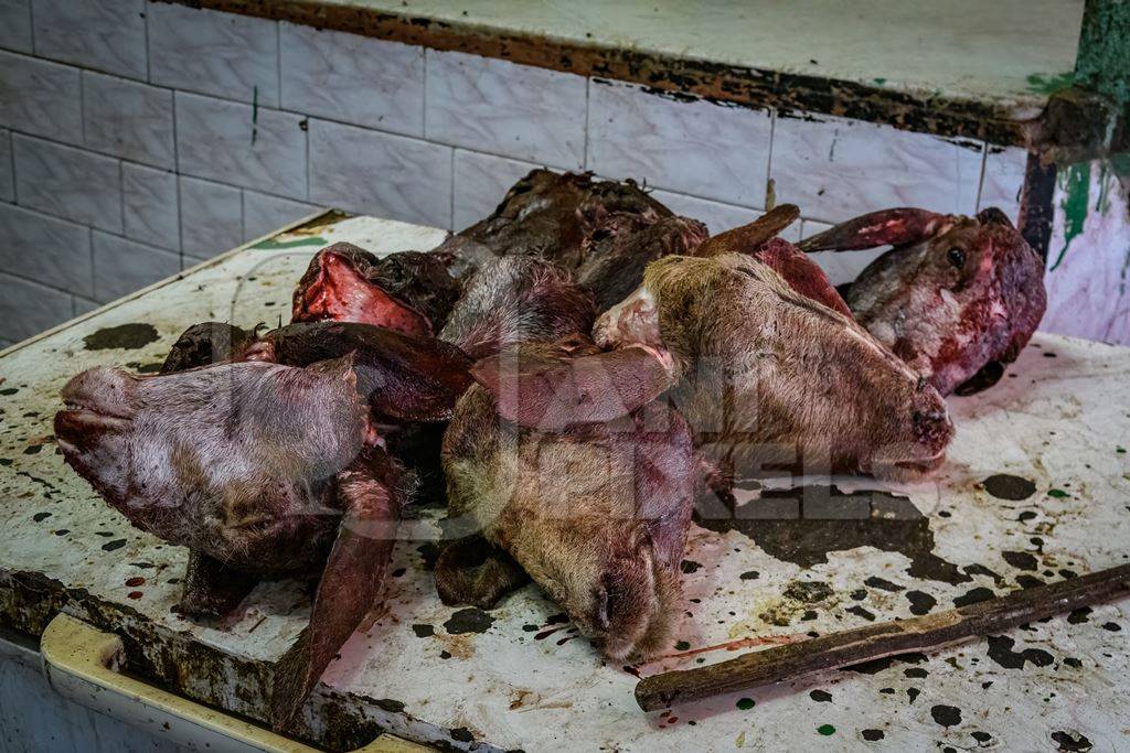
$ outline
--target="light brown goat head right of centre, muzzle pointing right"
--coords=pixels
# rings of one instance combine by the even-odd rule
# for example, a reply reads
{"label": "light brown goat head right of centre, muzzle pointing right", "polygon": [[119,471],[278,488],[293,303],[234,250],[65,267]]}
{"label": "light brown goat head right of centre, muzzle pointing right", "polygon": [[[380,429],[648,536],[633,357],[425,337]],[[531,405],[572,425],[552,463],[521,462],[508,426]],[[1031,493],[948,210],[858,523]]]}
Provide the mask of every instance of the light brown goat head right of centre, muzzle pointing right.
{"label": "light brown goat head right of centre, muzzle pointing right", "polygon": [[653,262],[593,336],[668,351],[692,430],[753,473],[782,455],[805,470],[927,471],[953,435],[941,396],[906,364],[741,254]]}

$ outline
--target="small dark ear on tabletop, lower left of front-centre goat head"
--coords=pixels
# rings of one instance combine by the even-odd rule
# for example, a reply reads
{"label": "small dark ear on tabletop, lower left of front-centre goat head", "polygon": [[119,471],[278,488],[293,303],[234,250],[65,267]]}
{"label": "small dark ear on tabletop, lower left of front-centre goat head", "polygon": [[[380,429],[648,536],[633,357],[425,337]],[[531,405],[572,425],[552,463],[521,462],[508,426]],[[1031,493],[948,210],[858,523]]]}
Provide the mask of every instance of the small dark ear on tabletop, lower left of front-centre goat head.
{"label": "small dark ear on tabletop, lower left of front-centre goat head", "polygon": [[475,534],[447,543],[435,561],[435,589],[449,606],[489,610],[530,576],[505,551]]}

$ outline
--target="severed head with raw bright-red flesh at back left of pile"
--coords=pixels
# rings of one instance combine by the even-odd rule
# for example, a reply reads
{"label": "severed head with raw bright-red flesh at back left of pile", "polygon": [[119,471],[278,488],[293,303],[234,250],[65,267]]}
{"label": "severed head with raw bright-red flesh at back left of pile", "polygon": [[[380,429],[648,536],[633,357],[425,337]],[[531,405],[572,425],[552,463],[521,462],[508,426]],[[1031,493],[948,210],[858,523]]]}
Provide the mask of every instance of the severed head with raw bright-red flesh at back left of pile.
{"label": "severed head with raw bright-red flesh at back left of pile", "polygon": [[459,283],[438,256],[406,251],[377,259],[353,244],[334,243],[314,256],[298,281],[292,318],[431,334],[458,297]]}

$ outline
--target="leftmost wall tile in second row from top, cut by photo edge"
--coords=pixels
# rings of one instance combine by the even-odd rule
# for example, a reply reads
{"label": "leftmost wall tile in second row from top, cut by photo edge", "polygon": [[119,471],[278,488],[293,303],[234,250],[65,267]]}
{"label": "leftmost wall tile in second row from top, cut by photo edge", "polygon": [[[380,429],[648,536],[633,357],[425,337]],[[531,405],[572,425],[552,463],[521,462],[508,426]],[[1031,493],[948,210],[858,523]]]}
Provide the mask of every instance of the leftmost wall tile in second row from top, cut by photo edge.
{"label": "leftmost wall tile in second row from top, cut by photo edge", "polygon": [[82,143],[77,68],[0,52],[0,125]]}

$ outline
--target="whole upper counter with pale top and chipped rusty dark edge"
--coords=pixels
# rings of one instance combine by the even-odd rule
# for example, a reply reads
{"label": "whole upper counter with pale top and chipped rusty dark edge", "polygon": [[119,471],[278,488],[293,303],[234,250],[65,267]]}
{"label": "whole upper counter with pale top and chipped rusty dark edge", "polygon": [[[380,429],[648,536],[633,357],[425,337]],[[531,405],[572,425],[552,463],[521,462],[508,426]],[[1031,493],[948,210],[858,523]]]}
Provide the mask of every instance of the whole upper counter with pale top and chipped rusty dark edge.
{"label": "whole upper counter with pale top and chipped rusty dark edge", "polygon": [[1020,143],[1083,0],[176,0],[751,106]]}

